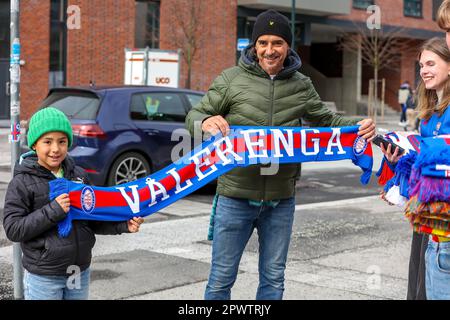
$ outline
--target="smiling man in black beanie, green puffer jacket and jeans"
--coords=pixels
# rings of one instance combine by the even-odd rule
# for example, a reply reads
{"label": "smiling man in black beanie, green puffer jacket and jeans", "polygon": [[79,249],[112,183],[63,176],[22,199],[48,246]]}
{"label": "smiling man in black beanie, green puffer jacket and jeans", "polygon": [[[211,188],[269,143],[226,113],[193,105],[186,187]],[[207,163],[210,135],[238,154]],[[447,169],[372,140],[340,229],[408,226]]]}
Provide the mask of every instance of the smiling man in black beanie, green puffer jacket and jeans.
{"label": "smiling man in black beanie, green puffer jacket and jeans", "polygon": [[[229,125],[355,125],[329,111],[309,78],[297,70],[299,56],[289,48],[292,34],[286,17],[274,10],[258,15],[252,44],[239,65],[222,72],[186,118],[191,134],[229,132]],[[371,119],[359,122],[359,135],[375,134]],[[253,232],[259,236],[257,299],[282,299],[284,270],[295,210],[298,164],[280,165],[274,175],[261,166],[236,168],[219,178],[215,199],[212,263],[205,299],[230,299],[244,248]],[[216,202],[217,201],[217,202]]]}

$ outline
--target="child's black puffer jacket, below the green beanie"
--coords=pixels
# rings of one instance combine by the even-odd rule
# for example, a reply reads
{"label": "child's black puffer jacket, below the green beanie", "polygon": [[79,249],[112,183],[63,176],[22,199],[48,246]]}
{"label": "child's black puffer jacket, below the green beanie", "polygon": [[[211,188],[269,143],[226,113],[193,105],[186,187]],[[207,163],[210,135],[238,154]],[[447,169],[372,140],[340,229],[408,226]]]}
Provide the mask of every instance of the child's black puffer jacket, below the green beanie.
{"label": "child's black puffer jacket, below the green beanie", "polygon": [[[69,156],[63,162],[64,177],[88,184],[84,171]],[[40,275],[68,275],[67,268],[81,271],[91,263],[97,234],[128,232],[126,222],[73,221],[67,238],[58,235],[57,223],[66,217],[60,205],[49,200],[48,182],[56,177],[33,154],[21,158],[5,197],[3,227],[11,241],[20,242],[26,270]]]}

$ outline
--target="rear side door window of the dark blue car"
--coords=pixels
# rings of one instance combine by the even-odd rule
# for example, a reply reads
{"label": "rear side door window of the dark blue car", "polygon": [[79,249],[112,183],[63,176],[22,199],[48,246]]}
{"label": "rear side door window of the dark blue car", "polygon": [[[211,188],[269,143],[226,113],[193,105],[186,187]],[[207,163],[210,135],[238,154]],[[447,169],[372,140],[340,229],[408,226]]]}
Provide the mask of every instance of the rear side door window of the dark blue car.
{"label": "rear side door window of the dark blue car", "polygon": [[133,120],[184,122],[186,110],[178,94],[143,93],[133,95],[130,116]]}

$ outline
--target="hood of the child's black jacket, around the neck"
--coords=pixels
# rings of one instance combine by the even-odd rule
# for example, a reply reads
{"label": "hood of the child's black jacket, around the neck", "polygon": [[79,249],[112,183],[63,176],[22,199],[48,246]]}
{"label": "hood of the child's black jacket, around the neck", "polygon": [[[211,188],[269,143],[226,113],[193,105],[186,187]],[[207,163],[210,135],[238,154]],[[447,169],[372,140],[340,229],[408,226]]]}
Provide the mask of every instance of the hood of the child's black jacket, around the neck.
{"label": "hood of the child's black jacket, around the neck", "polygon": [[[47,168],[41,166],[37,161],[38,158],[36,152],[34,151],[29,151],[22,154],[14,166],[14,176],[20,173],[28,173],[38,177],[54,179],[55,176],[53,173],[51,173],[51,171]],[[64,170],[64,176],[66,176],[67,173],[74,171],[75,162],[71,157],[66,156],[62,162],[62,167]]]}

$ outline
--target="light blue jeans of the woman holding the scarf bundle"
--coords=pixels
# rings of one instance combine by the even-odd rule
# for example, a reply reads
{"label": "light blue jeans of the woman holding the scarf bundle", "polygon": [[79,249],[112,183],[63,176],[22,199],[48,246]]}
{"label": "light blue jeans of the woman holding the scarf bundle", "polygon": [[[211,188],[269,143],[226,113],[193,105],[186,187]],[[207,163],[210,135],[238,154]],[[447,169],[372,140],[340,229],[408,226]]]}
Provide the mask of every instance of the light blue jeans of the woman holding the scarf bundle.
{"label": "light blue jeans of the woman holding the scarf bundle", "polygon": [[450,300],[450,242],[428,241],[425,252],[428,300]]}

